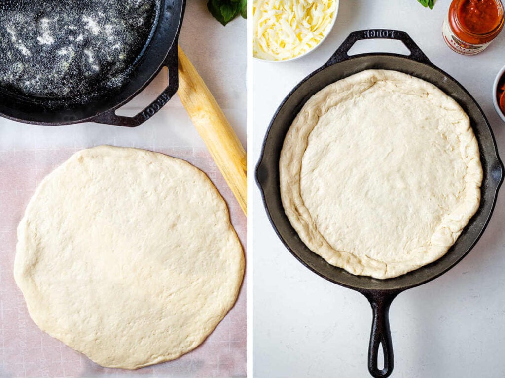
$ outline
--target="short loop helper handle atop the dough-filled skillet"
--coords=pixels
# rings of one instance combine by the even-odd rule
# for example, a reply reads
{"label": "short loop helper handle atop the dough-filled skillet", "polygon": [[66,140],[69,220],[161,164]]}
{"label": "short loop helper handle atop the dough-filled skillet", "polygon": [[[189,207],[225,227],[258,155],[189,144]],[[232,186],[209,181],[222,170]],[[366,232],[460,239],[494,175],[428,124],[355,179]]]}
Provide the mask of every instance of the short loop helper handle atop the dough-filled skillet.
{"label": "short loop helper handle atop the dough-filled skillet", "polygon": [[339,61],[349,59],[350,56],[347,52],[350,50],[352,45],[357,41],[362,39],[396,39],[403,42],[403,44],[410,50],[410,55],[407,55],[410,59],[420,61],[421,63],[432,65],[432,62],[424,54],[424,52],[419,48],[419,46],[414,42],[414,40],[404,32],[403,30],[393,30],[393,29],[367,29],[367,30],[357,30],[349,34],[347,38],[342,42],[340,47],[331,55],[330,59],[326,62],[325,67],[333,66]]}

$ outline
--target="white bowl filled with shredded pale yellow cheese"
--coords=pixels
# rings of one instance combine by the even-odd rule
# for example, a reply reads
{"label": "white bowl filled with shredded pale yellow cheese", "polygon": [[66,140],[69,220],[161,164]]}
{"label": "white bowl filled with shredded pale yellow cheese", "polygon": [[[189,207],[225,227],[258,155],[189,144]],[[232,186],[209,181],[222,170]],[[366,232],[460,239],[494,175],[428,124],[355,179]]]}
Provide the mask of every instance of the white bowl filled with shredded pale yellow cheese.
{"label": "white bowl filled with shredded pale yellow cheese", "polygon": [[287,61],[313,51],[337,18],[339,0],[254,0],[253,56]]}

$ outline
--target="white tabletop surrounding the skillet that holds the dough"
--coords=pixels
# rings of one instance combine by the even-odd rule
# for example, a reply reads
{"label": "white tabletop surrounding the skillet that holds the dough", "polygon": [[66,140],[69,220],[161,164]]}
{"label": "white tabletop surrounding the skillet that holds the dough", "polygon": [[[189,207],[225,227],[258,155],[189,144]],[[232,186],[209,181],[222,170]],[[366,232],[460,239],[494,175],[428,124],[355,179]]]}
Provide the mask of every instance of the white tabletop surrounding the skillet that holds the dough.
{"label": "white tabletop surrounding the skillet that holds the dough", "polygon": [[[270,119],[287,93],[324,64],[354,30],[407,31],[431,61],[477,100],[505,156],[505,124],[491,87],[505,65],[505,32],[476,56],[449,50],[442,20],[449,0],[430,11],[416,0],[341,0],[327,40],[310,55],[254,62],[254,161]],[[358,52],[405,52],[399,42],[369,40]],[[505,192],[470,254],[452,270],[400,294],[390,310],[395,377],[505,376]],[[296,261],[271,227],[254,188],[254,371],[263,377],[366,377],[371,309],[364,296],[330,283]]]}

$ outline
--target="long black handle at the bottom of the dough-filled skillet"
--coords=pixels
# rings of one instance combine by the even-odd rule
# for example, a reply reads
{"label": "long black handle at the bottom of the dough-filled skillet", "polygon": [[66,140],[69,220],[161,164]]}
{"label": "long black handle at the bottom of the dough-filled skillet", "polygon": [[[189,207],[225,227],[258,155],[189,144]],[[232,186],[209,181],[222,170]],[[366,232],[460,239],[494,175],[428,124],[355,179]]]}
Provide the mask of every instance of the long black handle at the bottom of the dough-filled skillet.
{"label": "long black handle at the bottom of the dough-filled skillet", "polygon": [[[393,371],[393,344],[389,328],[389,306],[394,294],[366,295],[372,306],[373,321],[368,347],[368,370],[375,378],[386,378]],[[383,368],[378,367],[379,347],[382,345],[384,356]]]}

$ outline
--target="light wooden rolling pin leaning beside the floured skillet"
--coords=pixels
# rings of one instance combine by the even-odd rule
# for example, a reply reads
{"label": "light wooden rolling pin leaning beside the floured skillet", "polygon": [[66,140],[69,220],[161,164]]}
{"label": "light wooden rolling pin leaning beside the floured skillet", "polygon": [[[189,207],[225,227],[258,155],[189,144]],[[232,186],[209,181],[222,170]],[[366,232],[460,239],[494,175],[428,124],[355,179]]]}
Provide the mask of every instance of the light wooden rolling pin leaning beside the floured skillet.
{"label": "light wooden rolling pin leaning beside the floured skillet", "polygon": [[247,216],[247,159],[244,148],[223,110],[180,46],[178,51],[177,94]]}

